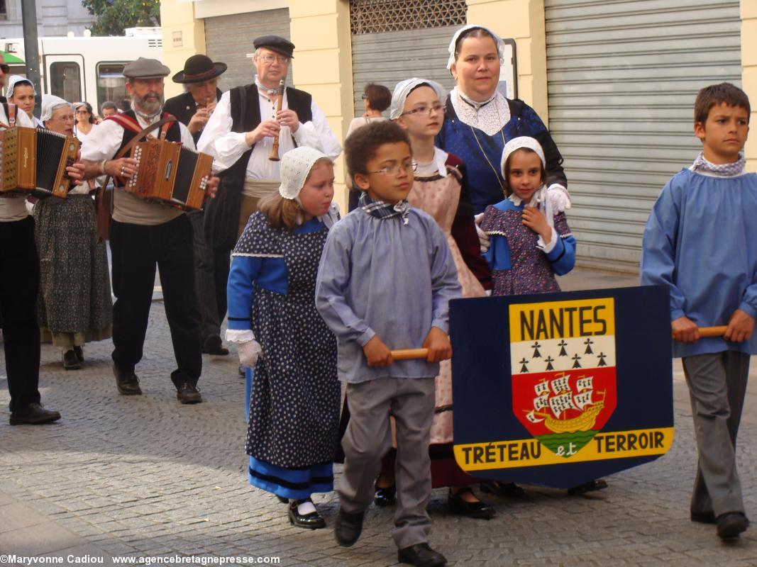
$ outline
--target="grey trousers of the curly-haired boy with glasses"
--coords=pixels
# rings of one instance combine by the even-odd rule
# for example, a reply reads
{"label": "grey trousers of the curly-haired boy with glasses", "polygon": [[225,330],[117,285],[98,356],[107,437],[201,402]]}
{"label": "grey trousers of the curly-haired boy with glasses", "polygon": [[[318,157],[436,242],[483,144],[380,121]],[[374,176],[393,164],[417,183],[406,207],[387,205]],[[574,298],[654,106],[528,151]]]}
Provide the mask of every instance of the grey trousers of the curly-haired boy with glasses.
{"label": "grey trousers of the curly-haired boy with glasses", "polygon": [[342,438],[344,472],[339,503],[347,513],[366,510],[382,457],[391,447],[389,414],[397,423],[397,511],[391,537],[397,547],[428,542],[431,460],[428,443],[434,417],[433,378],[384,378],[347,384],[350,422]]}

